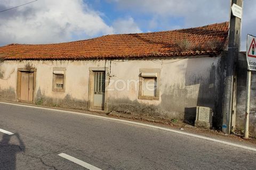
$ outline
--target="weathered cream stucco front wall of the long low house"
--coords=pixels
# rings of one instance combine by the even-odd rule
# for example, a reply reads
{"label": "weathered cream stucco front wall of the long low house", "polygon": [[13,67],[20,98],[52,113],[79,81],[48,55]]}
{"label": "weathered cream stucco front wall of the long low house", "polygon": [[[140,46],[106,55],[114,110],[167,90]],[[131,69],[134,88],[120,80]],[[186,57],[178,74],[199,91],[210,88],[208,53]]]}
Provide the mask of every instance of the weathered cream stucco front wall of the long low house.
{"label": "weathered cream stucco front wall of the long low house", "polygon": [[[4,61],[0,63],[0,99],[17,98],[17,69],[26,64],[37,69],[35,103],[87,109],[89,68],[107,67],[108,111],[193,122],[196,106],[214,110],[214,124],[221,126],[222,58],[204,56],[162,60]],[[53,68],[66,68],[66,92],[52,91]],[[159,100],[140,100],[139,70],[161,69]],[[10,95],[9,95],[10,94]]]}

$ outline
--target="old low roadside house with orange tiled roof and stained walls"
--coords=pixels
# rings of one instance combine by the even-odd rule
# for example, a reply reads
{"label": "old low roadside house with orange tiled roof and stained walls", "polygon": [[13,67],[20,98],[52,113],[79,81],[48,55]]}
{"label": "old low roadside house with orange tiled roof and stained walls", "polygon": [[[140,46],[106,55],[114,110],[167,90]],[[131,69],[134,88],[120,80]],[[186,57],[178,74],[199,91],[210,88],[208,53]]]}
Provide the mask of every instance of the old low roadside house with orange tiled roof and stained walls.
{"label": "old low roadside house with orange tiled roof and stained walls", "polygon": [[222,124],[229,23],[0,47],[0,100]]}

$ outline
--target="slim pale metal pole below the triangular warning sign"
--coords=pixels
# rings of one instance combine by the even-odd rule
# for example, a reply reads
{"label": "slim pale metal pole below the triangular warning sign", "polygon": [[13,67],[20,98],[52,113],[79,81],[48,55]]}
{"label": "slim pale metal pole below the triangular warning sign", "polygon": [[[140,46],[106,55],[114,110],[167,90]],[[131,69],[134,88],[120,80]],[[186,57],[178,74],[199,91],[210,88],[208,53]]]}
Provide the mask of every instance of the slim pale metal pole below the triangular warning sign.
{"label": "slim pale metal pole below the triangular warning sign", "polygon": [[250,95],[251,95],[251,78],[252,71],[247,71],[247,86],[246,86],[246,108],[245,108],[245,127],[244,138],[249,138],[249,117],[250,117]]}

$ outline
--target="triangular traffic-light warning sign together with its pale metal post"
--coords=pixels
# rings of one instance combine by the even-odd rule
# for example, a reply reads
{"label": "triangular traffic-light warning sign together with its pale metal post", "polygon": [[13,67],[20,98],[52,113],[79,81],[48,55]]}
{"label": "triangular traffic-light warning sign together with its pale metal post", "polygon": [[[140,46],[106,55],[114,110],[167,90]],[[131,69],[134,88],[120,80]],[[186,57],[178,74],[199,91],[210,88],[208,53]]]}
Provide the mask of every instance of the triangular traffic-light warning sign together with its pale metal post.
{"label": "triangular traffic-light warning sign together with its pale metal post", "polygon": [[256,71],[256,37],[247,35],[246,59],[247,59],[247,85],[246,85],[246,107],[245,107],[245,125],[244,138],[249,138],[249,118],[250,118],[250,95],[251,95],[251,77],[252,71]]}

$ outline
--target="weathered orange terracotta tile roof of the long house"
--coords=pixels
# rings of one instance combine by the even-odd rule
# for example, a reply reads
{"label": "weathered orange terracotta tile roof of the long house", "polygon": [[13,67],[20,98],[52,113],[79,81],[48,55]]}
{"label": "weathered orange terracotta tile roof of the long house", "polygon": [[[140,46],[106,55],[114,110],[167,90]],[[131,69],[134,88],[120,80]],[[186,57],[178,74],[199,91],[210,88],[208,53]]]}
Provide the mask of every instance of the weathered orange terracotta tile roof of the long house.
{"label": "weathered orange terracotta tile roof of the long house", "polygon": [[10,44],[0,58],[84,59],[219,53],[228,37],[228,22],[204,27],[140,34],[118,34],[58,44]]}

